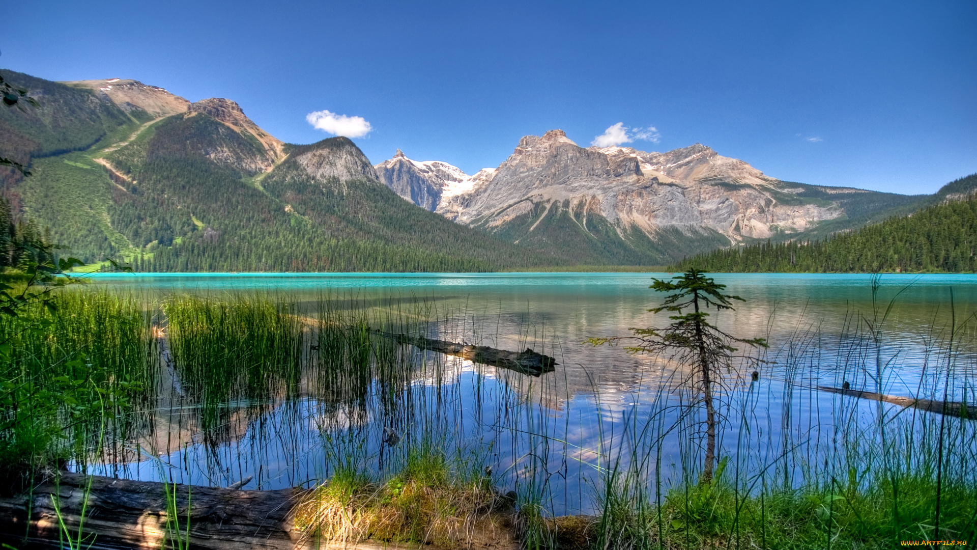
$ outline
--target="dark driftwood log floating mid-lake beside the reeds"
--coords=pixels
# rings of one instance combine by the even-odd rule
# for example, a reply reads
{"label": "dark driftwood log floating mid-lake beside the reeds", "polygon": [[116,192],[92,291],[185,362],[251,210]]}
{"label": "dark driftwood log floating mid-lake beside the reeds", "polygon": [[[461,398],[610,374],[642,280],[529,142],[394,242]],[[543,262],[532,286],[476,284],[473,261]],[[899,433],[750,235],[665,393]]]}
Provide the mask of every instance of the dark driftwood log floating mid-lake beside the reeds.
{"label": "dark driftwood log floating mid-lake beside the reeds", "polygon": [[377,330],[370,332],[394,340],[398,344],[411,344],[419,349],[464,357],[476,363],[502,367],[531,376],[553,372],[556,370],[556,365],[559,364],[553,357],[537,353],[529,347],[526,348],[526,351],[508,351],[488,345],[457,344],[444,340],[432,340],[422,336],[407,336]]}

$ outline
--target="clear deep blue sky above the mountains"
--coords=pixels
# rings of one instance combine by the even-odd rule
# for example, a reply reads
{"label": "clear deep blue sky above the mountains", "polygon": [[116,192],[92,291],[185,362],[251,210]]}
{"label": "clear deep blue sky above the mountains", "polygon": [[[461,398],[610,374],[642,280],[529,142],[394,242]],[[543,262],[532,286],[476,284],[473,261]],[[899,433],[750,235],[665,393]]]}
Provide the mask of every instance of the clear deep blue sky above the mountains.
{"label": "clear deep blue sky above the mountains", "polygon": [[977,172],[975,28],[972,0],[42,0],[4,8],[0,67],[230,98],[292,143],[329,137],[311,113],[359,116],[373,162],[472,173],[523,135],[587,146],[619,122],[637,149],[701,142],[785,180],[914,194]]}

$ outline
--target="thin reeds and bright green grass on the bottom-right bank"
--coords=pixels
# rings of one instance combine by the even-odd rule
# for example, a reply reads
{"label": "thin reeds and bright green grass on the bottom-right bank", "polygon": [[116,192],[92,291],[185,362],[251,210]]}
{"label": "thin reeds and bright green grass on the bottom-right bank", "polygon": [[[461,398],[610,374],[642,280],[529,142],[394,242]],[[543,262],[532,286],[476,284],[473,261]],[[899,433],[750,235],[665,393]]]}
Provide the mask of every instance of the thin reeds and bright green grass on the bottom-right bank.
{"label": "thin reeds and bright green grass on the bottom-right bank", "polygon": [[[873,289],[874,290],[874,289]],[[884,307],[884,304],[882,305]],[[977,536],[977,422],[914,408],[834,396],[822,408],[819,391],[805,383],[825,363],[836,364],[838,383],[861,377],[884,390],[899,376],[900,352],[887,350],[885,316],[853,315],[838,337],[837,354],[815,350],[818,331],[798,331],[782,347],[780,380],[736,378],[723,395],[727,429],[721,472],[701,482],[698,407],[679,393],[662,398],[630,424],[623,444],[609,444],[613,467],[602,471],[601,515],[589,543],[600,548],[892,548],[903,540],[968,540]],[[956,322],[956,321],[955,321]],[[867,330],[863,327],[868,326]],[[959,352],[960,326],[930,331],[917,383],[920,397],[946,399],[950,384],[973,387],[972,355]],[[970,345],[974,343],[969,343]],[[939,368],[937,371],[936,369]],[[735,373],[734,373],[735,375]],[[968,386],[969,385],[969,386]],[[779,387],[780,390],[774,390]],[[775,391],[780,391],[777,395]],[[781,401],[780,426],[771,423]],[[671,406],[682,408],[664,422]],[[806,414],[798,414],[805,411]],[[637,416],[637,410],[634,411]],[[662,443],[680,441],[675,478],[662,479]],[[600,439],[616,435],[602,430]],[[626,465],[624,468],[618,465]]]}

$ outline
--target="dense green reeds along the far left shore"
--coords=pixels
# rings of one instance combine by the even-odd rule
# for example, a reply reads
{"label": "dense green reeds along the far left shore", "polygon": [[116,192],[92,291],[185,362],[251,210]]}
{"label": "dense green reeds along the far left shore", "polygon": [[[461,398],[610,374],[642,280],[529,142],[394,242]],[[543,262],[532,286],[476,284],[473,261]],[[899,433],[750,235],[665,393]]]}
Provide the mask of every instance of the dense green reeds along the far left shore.
{"label": "dense green reeds along the far left shore", "polygon": [[[84,464],[92,453],[118,457],[124,435],[139,430],[129,411],[153,390],[158,353],[143,299],[78,291],[54,303],[0,317],[0,469],[8,485],[67,460]],[[104,419],[123,436],[93,443]]]}

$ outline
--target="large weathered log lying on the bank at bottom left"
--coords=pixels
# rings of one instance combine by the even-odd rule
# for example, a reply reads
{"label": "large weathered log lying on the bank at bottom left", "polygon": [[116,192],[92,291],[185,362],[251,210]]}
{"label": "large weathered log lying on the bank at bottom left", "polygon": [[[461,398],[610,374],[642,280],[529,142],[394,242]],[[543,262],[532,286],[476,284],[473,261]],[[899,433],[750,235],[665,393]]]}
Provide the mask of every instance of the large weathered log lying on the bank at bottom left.
{"label": "large weathered log lying on the bank at bottom left", "polygon": [[[171,494],[173,488],[170,485]],[[309,547],[291,521],[302,489],[254,491],[178,484],[175,492],[182,534],[189,534],[192,548]],[[165,494],[164,484],[153,481],[63,474],[60,481],[35,487],[31,495],[0,498],[0,541],[19,549],[61,548],[61,522],[76,537],[84,520],[82,548],[158,549],[167,532]]]}

